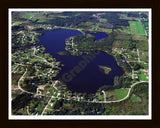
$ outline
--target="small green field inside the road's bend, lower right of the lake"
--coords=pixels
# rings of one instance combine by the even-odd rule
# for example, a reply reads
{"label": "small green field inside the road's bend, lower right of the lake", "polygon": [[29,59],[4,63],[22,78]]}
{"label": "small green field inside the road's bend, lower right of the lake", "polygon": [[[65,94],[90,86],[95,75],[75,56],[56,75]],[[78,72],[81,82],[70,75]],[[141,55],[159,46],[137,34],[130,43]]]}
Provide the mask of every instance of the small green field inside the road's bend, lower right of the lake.
{"label": "small green field inside the road's bend, lower right of the lake", "polygon": [[129,90],[128,88],[127,89],[124,89],[124,88],[116,89],[115,93],[117,95],[118,100],[121,100],[124,97],[126,97],[128,94],[128,90]]}

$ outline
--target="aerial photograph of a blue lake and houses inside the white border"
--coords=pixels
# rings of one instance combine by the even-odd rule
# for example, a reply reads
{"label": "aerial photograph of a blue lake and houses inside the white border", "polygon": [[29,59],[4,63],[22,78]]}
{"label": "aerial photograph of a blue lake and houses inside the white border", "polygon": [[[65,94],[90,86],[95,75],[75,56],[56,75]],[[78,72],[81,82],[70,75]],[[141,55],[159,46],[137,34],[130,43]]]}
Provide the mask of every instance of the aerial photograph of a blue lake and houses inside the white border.
{"label": "aerial photograph of a blue lake and houses inside the white border", "polygon": [[149,13],[11,9],[10,116],[149,115]]}

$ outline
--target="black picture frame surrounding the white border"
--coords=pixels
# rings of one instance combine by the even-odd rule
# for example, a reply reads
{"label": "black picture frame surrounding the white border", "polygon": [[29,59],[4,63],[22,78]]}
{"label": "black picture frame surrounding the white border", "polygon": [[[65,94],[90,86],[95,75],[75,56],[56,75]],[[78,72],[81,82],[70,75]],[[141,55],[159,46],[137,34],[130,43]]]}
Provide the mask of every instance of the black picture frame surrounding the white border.
{"label": "black picture frame surrounding the white border", "polygon": [[[152,120],[8,120],[8,9],[9,8],[151,8],[152,9]],[[3,0],[0,8],[0,121],[4,128],[158,128],[160,126],[158,0]]]}

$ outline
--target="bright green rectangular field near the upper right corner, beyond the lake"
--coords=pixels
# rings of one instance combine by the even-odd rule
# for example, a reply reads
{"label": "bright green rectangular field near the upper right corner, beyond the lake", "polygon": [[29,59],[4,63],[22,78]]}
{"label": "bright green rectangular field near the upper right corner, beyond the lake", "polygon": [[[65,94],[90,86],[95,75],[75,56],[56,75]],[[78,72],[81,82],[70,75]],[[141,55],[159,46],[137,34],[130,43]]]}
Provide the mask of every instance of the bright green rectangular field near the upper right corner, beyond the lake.
{"label": "bright green rectangular field near the upper right corner, beyond the lake", "polygon": [[145,34],[141,21],[128,21],[131,34]]}

